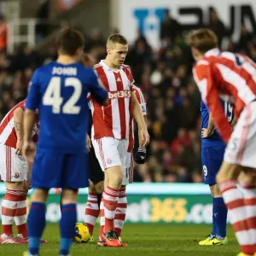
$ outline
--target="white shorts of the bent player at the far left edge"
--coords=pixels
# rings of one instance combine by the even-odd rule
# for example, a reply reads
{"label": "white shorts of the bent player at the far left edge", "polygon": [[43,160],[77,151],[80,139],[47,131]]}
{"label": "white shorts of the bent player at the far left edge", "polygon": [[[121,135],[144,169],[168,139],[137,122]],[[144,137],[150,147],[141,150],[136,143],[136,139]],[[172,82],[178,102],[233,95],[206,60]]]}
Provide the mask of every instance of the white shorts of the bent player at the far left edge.
{"label": "white shorts of the bent player at the far left edge", "polygon": [[0,143],[0,175],[7,182],[26,180],[26,160],[15,154],[16,149]]}

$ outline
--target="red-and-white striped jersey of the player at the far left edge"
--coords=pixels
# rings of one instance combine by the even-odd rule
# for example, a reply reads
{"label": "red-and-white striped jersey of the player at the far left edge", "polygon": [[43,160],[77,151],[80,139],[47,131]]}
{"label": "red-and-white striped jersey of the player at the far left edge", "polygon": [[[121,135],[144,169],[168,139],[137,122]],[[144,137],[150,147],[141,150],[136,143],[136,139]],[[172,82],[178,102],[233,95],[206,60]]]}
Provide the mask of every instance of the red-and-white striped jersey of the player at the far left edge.
{"label": "red-and-white striped jersey of the player at the far left edge", "polygon": [[[14,108],[12,108],[9,113],[3,118],[0,124],[0,143],[3,143],[10,148],[16,148],[17,143],[17,135],[15,131],[15,121],[14,121],[14,113],[15,109],[22,108],[25,110],[25,103],[26,100],[18,103]],[[32,131],[32,140],[34,142],[38,141],[38,132],[39,132],[39,125],[38,125],[38,117],[36,120],[36,124],[33,127]]]}

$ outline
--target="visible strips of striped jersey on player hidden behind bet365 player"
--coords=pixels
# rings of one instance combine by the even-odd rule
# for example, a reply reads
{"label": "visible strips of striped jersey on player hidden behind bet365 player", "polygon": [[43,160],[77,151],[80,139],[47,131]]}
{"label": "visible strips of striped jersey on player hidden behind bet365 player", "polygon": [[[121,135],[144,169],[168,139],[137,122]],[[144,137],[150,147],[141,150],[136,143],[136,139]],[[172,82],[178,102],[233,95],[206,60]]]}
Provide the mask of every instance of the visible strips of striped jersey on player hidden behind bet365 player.
{"label": "visible strips of striped jersey on player hidden behind bet365 player", "polygon": [[[143,112],[143,116],[147,117],[147,106],[146,106],[146,101],[145,98],[143,96],[143,92],[142,90],[140,90],[137,86],[133,85],[133,91],[135,92],[135,95],[137,97],[137,101],[139,102],[142,112]],[[133,146],[134,146],[134,132],[133,132],[133,116],[131,115],[131,132],[130,132],[130,136],[129,136],[129,145],[128,145],[128,152],[132,152]]]}

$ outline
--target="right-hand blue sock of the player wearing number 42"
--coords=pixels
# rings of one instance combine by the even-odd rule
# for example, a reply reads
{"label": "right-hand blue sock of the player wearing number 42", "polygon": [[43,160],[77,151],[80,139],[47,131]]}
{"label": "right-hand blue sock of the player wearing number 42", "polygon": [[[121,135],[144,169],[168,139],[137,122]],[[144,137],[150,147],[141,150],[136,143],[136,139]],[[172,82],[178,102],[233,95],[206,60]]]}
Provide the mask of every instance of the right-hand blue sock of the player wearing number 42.
{"label": "right-hand blue sock of the player wearing number 42", "polygon": [[61,206],[61,245],[60,255],[68,255],[75,235],[75,224],[77,222],[76,204]]}

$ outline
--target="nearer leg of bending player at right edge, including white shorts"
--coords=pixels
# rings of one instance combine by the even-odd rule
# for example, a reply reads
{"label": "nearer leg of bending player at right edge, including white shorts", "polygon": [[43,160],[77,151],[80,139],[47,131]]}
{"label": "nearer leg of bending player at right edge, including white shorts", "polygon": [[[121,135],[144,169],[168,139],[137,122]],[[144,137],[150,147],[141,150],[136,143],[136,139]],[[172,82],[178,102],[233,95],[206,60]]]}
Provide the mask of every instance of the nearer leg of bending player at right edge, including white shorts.
{"label": "nearer leg of bending player at right edge, including white shorts", "polygon": [[[218,172],[217,181],[224,202],[229,210],[230,222],[236,232],[236,238],[241,246],[241,253],[255,253],[255,228],[248,226],[247,216],[251,214],[255,201],[248,206],[243,195],[236,187],[237,177],[241,169],[256,168],[256,102],[248,104],[241,112],[230,141],[225,149],[224,163]],[[252,233],[254,235],[252,236]]]}

